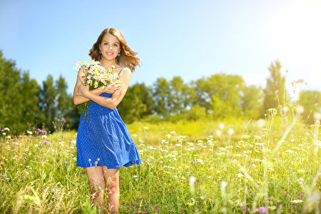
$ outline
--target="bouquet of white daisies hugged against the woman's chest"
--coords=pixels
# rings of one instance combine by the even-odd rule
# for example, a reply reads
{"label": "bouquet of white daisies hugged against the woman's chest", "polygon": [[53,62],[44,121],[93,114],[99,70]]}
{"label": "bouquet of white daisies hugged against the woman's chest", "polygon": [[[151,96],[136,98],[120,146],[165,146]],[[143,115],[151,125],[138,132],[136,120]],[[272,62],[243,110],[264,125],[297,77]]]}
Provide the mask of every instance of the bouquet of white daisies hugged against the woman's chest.
{"label": "bouquet of white daisies hugged against the woman's chest", "polygon": [[[89,85],[89,90],[96,88],[110,89],[111,87],[121,85],[121,81],[119,81],[118,74],[115,71],[115,66],[111,66],[106,70],[103,66],[99,65],[98,61],[78,61],[73,69],[79,71],[81,66],[84,66],[84,72],[81,74],[81,77],[86,76],[85,84]],[[88,106],[90,103],[91,101],[87,101],[78,105],[79,113],[83,116],[83,119],[88,116]]]}

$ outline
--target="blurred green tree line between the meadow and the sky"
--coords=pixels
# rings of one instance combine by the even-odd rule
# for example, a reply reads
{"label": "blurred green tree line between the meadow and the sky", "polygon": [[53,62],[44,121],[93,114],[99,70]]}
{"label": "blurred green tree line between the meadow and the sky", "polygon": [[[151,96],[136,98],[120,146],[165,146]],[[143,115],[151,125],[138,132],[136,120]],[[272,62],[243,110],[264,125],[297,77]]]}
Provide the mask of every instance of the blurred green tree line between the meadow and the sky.
{"label": "blurred green tree line between the meadow and the sky", "polygon": [[[270,77],[265,88],[247,85],[238,75],[217,73],[185,83],[180,76],[170,81],[158,78],[152,86],[136,83],[128,88],[118,105],[126,123],[133,121],[217,120],[223,118],[264,118],[265,111],[286,105],[288,94],[280,61],[268,68]],[[16,134],[31,128],[55,131],[57,126],[77,129],[78,108],[72,94],[66,92],[63,76],[47,76],[41,84],[20,71],[16,63],[0,51],[0,128],[9,127]],[[302,82],[301,82],[302,83]],[[320,91],[302,91],[300,103],[305,107],[307,122],[320,112]],[[62,124],[63,123],[63,124]]]}

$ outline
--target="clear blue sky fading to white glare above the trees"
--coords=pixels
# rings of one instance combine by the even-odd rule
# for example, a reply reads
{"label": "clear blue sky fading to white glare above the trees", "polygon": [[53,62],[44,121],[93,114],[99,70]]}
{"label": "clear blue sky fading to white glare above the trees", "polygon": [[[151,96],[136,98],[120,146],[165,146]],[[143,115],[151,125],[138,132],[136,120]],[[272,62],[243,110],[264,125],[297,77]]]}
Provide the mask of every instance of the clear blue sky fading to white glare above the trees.
{"label": "clear blue sky fading to white glare above the trees", "polygon": [[298,79],[321,91],[320,11],[321,0],[0,0],[0,51],[40,85],[63,76],[72,94],[73,66],[113,27],[141,59],[131,85],[227,73],[264,88],[279,60],[289,91]]}

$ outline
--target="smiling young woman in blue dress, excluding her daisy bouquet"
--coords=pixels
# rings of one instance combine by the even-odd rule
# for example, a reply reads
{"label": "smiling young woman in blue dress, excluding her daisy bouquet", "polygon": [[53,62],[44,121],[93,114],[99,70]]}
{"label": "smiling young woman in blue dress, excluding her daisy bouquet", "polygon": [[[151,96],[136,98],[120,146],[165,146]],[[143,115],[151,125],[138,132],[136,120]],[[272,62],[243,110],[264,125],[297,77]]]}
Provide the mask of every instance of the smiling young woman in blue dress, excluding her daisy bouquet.
{"label": "smiling young woman in blue dress, excluding her daisy bouquet", "polygon": [[136,145],[116,108],[125,96],[131,73],[140,65],[136,54],[128,47],[120,31],[113,28],[103,30],[89,56],[100,61],[106,70],[115,66],[121,88],[89,91],[89,86],[84,84],[86,69],[81,67],[73,91],[73,103],[76,105],[91,100],[88,116],[80,117],[76,141],[77,165],[86,168],[92,206],[105,209],[104,189],[107,187],[108,213],[118,213],[120,168],[141,164]]}

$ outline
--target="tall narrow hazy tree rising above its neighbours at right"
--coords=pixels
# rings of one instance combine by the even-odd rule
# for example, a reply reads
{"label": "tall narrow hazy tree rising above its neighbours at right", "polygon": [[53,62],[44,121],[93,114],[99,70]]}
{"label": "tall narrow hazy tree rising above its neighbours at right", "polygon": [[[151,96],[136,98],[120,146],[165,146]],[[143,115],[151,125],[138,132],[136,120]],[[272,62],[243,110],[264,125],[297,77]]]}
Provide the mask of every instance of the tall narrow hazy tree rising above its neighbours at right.
{"label": "tall narrow hazy tree rising above its neighbours at right", "polygon": [[279,105],[284,106],[286,101],[285,76],[281,73],[280,61],[271,63],[269,67],[270,78],[267,78],[264,89],[263,114],[269,108],[277,108]]}

